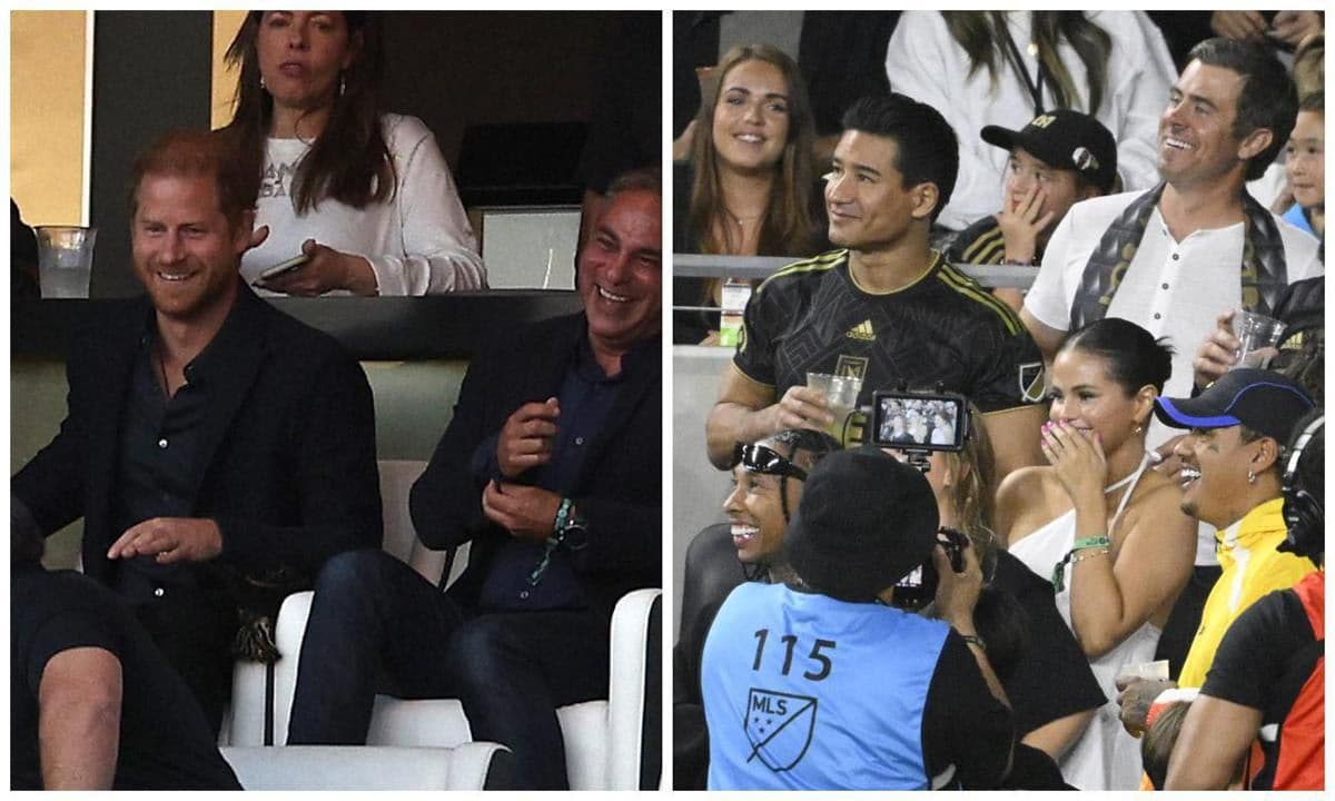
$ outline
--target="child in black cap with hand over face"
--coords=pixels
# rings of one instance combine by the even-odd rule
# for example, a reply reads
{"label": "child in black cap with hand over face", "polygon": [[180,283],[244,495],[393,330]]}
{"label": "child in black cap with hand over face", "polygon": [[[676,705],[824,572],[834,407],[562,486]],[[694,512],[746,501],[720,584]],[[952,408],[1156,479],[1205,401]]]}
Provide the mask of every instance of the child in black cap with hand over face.
{"label": "child in black cap with hand over face", "polygon": [[[981,136],[1011,151],[1003,208],[956,236],[947,251],[951,262],[1037,267],[1067,211],[1112,192],[1117,179],[1117,143],[1103,123],[1079,111],[1047,111],[1020,131],[987,125]],[[1020,308],[1016,290],[996,294]]]}

